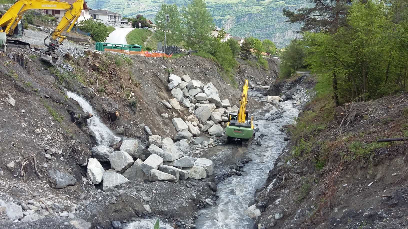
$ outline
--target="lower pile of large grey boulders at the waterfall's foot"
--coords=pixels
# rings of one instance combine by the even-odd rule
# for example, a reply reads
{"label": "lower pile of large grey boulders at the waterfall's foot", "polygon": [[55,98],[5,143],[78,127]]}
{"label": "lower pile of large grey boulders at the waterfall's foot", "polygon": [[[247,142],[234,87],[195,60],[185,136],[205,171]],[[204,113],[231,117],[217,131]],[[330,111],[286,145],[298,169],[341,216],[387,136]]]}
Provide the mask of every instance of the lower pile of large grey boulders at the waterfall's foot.
{"label": "lower pile of large grey boulders at the waterfall's foot", "polygon": [[[179,133],[190,134],[193,141],[192,134],[188,132],[188,125],[193,124],[188,123],[180,118],[173,119]],[[191,141],[181,139],[174,143],[171,138],[162,139],[158,135],[151,135],[147,149],[146,144],[129,138],[120,141],[117,151],[104,145],[95,146],[91,150],[93,158],[88,161],[86,176],[90,183],[103,183],[104,191],[135,179],[177,182],[187,178],[199,180],[211,176],[213,161],[204,158],[194,160],[193,156],[186,155],[191,152]],[[206,143],[207,147],[209,144]],[[201,145],[200,147],[204,149]],[[105,171],[100,162],[110,163],[111,169]]]}

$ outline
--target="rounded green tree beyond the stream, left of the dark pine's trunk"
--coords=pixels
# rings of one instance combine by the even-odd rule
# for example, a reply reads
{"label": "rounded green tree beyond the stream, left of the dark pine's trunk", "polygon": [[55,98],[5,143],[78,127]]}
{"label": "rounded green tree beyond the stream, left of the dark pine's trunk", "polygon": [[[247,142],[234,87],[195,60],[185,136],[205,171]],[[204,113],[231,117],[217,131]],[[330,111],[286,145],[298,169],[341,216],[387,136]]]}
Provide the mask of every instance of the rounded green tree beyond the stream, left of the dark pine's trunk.
{"label": "rounded green tree beyond the stream, left of the dark pine's trunk", "polygon": [[304,44],[297,39],[292,40],[282,53],[279,76],[282,78],[290,77],[297,68],[304,66],[305,56]]}

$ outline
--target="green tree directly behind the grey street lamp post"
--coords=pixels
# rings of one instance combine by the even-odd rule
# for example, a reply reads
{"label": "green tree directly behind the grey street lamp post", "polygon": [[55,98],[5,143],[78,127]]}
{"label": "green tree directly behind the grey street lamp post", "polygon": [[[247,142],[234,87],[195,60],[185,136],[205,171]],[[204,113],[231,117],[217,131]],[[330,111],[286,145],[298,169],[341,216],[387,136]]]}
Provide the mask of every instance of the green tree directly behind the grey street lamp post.
{"label": "green tree directly behind the grey street lamp post", "polygon": [[182,40],[182,25],[176,4],[162,4],[162,8],[154,19],[157,28],[154,36],[157,40],[164,41],[166,13],[170,16],[170,21],[167,22],[166,43],[167,45],[178,45]]}

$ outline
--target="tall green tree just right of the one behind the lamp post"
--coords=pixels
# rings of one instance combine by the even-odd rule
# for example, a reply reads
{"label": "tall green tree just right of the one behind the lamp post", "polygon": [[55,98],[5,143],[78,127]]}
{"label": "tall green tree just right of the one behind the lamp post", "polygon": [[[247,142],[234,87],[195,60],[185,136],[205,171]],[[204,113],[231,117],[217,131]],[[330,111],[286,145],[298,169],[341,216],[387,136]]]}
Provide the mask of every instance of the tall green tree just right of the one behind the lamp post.
{"label": "tall green tree just right of the one behind the lamp post", "polygon": [[214,28],[206,3],[203,0],[192,0],[183,11],[187,47],[205,51],[211,42]]}

